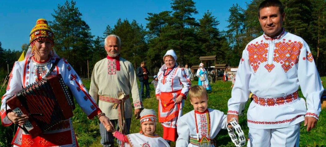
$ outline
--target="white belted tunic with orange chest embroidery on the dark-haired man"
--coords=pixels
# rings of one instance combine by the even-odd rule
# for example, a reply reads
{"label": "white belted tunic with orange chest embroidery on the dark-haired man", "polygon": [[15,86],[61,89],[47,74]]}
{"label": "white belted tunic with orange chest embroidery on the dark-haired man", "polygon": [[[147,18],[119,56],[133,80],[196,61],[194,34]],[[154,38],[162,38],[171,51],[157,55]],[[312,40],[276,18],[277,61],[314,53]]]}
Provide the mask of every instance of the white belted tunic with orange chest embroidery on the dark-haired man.
{"label": "white belted tunic with orange chest embroidery on the dark-haired man", "polygon": [[[299,86],[306,102],[297,97]],[[304,115],[318,119],[323,87],[307,43],[284,29],[277,37],[263,34],[249,42],[239,63],[228,114],[238,114],[250,91],[256,98],[248,109],[248,127],[287,127],[304,121]]]}

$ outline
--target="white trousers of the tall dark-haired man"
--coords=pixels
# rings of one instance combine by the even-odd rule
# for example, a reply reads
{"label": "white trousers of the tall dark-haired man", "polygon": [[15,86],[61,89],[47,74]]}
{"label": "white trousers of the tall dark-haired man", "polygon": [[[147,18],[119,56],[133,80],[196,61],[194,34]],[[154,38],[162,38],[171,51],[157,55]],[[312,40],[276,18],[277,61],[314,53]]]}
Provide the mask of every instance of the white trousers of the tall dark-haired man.
{"label": "white trousers of the tall dark-haired man", "polygon": [[247,147],[299,147],[300,123],[285,128],[249,128]]}

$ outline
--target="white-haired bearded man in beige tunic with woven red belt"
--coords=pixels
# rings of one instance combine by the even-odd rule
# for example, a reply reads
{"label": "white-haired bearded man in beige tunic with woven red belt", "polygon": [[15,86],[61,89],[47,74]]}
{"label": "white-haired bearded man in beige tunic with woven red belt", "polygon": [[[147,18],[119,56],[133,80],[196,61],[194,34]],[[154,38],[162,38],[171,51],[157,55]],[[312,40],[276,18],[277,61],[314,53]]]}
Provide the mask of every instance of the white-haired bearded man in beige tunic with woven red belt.
{"label": "white-haired bearded man in beige tunic with woven red belt", "polygon": [[[99,108],[110,118],[114,127],[118,125],[120,132],[129,134],[132,117],[130,93],[136,119],[140,118],[140,112],[143,109],[136,73],[132,64],[120,57],[120,37],[109,35],[105,38],[104,44],[108,55],[94,66],[89,94],[94,97],[95,101],[99,99]],[[112,134],[107,132],[102,124],[99,124],[99,128],[103,147],[113,146]]]}

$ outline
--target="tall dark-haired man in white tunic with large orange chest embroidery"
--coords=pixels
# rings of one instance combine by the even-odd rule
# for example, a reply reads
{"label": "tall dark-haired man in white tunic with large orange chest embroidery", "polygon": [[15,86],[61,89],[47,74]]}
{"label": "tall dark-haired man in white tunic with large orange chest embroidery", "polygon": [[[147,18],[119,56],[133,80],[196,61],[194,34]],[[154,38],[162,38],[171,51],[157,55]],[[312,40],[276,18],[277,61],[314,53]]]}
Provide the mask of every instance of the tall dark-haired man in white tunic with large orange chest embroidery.
{"label": "tall dark-haired man in white tunic with large orange chest embroidery", "polygon": [[[247,113],[247,146],[299,146],[300,123],[306,130],[319,119],[320,83],[308,44],[282,28],[284,8],[278,0],[259,5],[258,20],[264,34],[249,42],[228,101],[228,122],[238,118],[240,103],[253,101]],[[298,97],[301,87],[303,98]],[[307,104],[307,107],[306,107]]]}

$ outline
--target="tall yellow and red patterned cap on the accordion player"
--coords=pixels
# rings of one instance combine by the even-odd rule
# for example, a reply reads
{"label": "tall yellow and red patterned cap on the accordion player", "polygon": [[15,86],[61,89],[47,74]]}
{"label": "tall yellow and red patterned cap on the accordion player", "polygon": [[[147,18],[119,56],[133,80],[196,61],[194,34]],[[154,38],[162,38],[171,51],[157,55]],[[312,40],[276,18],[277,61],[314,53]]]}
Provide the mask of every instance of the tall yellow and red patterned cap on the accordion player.
{"label": "tall yellow and red patterned cap on the accordion player", "polygon": [[42,18],[36,21],[36,25],[32,29],[31,34],[29,35],[29,43],[32,43],[34,40],[41,37],[50,39],[50,41],[52,41],[53,44],[54,36],[53,36],[52,29],[48,25],[48,22]]}

